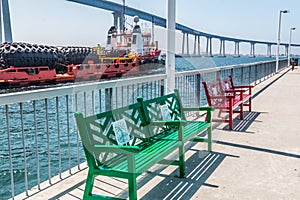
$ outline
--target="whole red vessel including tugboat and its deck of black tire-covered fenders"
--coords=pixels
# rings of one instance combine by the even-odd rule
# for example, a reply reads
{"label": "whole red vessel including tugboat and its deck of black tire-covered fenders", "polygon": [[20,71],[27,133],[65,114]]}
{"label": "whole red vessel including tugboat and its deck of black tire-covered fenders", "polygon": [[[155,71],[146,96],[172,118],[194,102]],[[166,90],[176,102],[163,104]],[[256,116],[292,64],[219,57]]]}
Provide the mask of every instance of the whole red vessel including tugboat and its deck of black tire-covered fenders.
{"label": "whole red vessel including tugboat and its deck of black tire-covered fenders", "polygon": [[162,67],[157,42],[152,41],[151,33],[142,33],[138,17],[134,22],[132,31],[122,33],[112,26],[105,49],[3,43],[0,88],[99,80]]}

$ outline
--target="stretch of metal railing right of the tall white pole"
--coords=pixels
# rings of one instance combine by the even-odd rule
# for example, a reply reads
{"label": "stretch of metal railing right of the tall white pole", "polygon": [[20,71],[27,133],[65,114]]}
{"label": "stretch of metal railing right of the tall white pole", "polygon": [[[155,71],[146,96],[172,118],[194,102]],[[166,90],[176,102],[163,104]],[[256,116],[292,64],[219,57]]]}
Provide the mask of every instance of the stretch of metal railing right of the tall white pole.
{"label": "stretch of metal railing right of the tall white pole", "polygon": [[[279,70],[286,67],[286,60],[280,60]],[[206,105],[206,96],[202,81],[214,81],[217,77],[233,75],[237,85],[257,85],[276,73],[275,61],[216,67],[203,70],[176,73],[176,87],[188,106]]]}

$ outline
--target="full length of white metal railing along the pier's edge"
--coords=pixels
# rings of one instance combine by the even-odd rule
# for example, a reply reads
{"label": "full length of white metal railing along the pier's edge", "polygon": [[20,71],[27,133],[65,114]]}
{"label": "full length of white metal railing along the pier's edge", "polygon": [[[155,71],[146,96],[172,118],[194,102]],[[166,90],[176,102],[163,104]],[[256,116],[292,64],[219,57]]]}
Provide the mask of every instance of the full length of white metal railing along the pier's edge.
{"label": "full length of white metal railing along the pier's edge", "polygon": [[[280,69],[286,60],[280,61]],[[206,104],[202,80],[232,74],[238,84],[258,84],[275,73],[275,61],[176,73],[176,87],[183,103]],[[75,84],[0,95],[0,196],[32,195],[42,182],[54,184],[63,172],[82,170],[85,161],[73,113],[99,113],[164,95],[166,75]],[[74,169],[74,168],[73,168]],[[6,187],[4,187],[6,186]]]}

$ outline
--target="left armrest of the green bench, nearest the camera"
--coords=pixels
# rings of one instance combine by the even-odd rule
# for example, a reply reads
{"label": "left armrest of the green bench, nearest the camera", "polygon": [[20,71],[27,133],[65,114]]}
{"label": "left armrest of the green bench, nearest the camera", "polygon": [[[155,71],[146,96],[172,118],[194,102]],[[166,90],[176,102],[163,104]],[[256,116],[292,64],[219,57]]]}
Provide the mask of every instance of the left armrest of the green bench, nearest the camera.
{"label": "left armrest of the green bench, nearest the camera", "polygon": [[119,145],[95,145],[95,150],[110,153],[137,154],[141,151],[138,146],[119,146]]}

